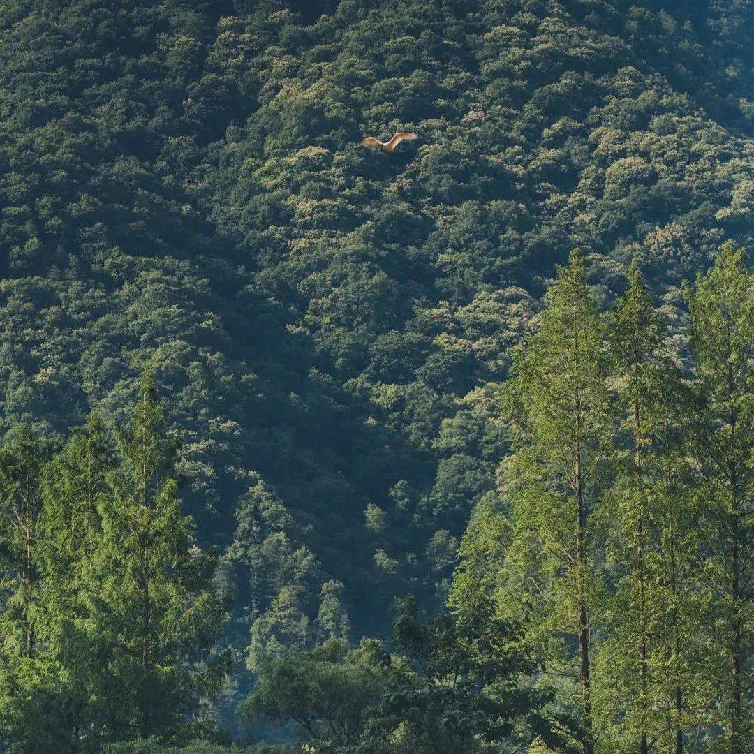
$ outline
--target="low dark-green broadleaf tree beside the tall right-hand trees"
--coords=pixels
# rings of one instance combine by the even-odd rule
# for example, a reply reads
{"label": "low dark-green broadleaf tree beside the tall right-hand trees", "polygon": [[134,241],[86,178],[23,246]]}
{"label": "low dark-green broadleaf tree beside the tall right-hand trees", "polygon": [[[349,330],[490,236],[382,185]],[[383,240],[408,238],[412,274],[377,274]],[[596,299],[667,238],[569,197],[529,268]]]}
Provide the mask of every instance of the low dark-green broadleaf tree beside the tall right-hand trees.
{"label": "low dark-green broadleaf tree beside the tall right-hand trees", "polygon": [[415,673],[391,680],[382,714],[391,729],[406,731],[407,750],[504,752],[535,742],[572,750],[544,713],[550,691],[532,683],[538,661],[495,613],[489,594],[478,590],[433,620],[422,617],[415,598],[399,602],[393,639]]}

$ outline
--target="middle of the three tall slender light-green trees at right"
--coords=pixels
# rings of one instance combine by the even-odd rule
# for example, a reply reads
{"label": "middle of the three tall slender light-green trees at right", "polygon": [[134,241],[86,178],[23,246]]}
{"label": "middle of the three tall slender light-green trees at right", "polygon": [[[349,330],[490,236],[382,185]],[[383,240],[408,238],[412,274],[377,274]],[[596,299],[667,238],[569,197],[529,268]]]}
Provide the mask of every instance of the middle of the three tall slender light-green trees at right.
{"label": "middle of the three tall slender light-green trees at right", "polygon": [[[602,708],[613,715],[620,710],[614,718],[616,750],[635,750],[638,743],[639,752],[648,754],[650,742],[667,728],[667,622],[679,630],[679,617],[664,609],[669,602],[677,606],[681,597],[677,589],[669,595],[664,588],[668,570],[663,553],[667,545],[670,567],[677,574],[683,498],[667,498],[664,474],[667,464],[681,463],[669,423],[677,424],[682,390],[667,353],[664,321],[636,262],[628,270],[627,292],[612,313],[609,340],[616,448],[611,456],[613,488],[602,518],[615,594],[599,657],[601,672],[611,679],[603,687],[608,693]],[[673,519],[668,520],[669,515]],[[688,601],[692,599],[688,595]],[[670,677],[677,674],[670,671]],[[618,698],[610,698],[609,688],[619,690]],[[676,721],[672,738],[682,746],[681,700],[676,693],[671,698]]]}

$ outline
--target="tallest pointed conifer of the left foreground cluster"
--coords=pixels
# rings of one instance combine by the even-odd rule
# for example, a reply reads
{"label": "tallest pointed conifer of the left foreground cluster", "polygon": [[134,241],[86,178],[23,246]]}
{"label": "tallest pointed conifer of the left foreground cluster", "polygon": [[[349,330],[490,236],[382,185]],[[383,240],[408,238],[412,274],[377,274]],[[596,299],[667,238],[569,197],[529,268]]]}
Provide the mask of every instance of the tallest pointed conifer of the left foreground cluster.
{"label": "tallest pointed conifer of the left foreground cluster", "polygon": [[170,736],[222,679],[223,664],[207,659],[224,609],[213,590],[215,559],[195,544],[182,513],[176,446],[151,370],[117,439],[121,465],[99,506],[91,587],[101,713],[116,738]]}

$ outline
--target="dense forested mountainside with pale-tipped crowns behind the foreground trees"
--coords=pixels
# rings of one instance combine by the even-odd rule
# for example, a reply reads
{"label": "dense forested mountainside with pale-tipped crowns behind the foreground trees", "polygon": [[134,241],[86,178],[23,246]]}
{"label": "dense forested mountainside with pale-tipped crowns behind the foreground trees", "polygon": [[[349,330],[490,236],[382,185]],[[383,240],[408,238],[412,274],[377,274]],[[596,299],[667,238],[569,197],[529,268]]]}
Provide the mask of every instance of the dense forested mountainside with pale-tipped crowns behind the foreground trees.
{"label": "dense forested mountainside with pale-tipped crowns behind the foreground trees", "polygon": [[231,700],[445,604],[571,250],[600,309],[636,260],[688,366],[682,284],[754,241],[748,0],[5,0],[0,29],[2,430],[127,424],[147,369],[234,594]]}

